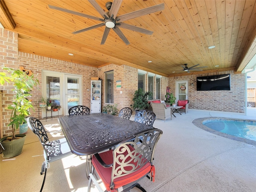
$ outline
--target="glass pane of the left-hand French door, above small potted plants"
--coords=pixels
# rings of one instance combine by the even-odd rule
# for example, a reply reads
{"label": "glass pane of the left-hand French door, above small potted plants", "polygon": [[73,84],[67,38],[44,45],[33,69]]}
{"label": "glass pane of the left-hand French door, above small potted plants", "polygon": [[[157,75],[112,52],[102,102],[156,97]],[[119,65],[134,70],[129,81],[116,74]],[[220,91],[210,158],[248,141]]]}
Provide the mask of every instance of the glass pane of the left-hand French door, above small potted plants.
{"label": "glass pane of the left-hand French door, above small potted plants", "polygon": [[46,76],[46,99],[52,106],[60,105],[60,78]]}

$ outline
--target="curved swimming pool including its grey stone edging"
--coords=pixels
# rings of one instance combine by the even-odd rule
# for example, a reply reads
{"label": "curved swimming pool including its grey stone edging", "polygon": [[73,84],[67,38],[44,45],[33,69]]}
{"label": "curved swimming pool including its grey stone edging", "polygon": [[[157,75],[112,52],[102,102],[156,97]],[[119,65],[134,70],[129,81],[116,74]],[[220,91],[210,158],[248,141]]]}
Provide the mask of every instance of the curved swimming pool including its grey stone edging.
{"label": "curved swimming pool including its grey stone edging", "polygon": [[256,121],[220,117],[198,118],[192,122],[213,134],[256,146]]}

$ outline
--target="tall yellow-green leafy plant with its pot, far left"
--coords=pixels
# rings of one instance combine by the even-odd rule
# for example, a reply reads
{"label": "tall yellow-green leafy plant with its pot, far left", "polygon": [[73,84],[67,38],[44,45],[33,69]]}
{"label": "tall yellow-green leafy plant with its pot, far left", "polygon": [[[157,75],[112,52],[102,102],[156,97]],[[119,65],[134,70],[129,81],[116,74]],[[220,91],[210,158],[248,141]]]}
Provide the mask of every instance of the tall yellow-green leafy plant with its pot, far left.
{"label": "tall yellow-green leafy plant with its pot, far left", "polygon": [[26,123],[26,117],[30,115],[29,110],[34,109],[28,97],[31,96],[29,92],[33,89],[33,86],[39,85],[39,81],[34,79],[33,74],[28,76],[26,72],[19,69],[14,70],[5,66],[2,66],[2,69],[7,72],[0,72],[0,84],[12,82],[15,93],[12,104],[7,107],[7,109],[12,110],[10,123],[8,124],[8,126],[12,126],[12,135],[0,139],[3,158],[11,158],[22,152],[26,135],[16,134],[16,130],[20,125]]}

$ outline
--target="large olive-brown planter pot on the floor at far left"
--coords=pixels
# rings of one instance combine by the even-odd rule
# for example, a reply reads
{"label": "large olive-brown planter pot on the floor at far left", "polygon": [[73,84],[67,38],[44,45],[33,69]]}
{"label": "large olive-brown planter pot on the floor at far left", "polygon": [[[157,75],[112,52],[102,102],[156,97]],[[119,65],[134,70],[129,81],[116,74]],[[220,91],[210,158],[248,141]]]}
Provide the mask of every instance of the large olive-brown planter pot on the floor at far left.
{"label": "large olive-brown planter pot on the floor at far left", "polygon": [[12,158],[12,157],[15,157],[15,156],[21,154],[26,135],[25,134],[17,134],[15,136],[16,136],[16,140],[12,140],[12,141],[6,140],[6,138],[8,136],[0,139],[0,143],[3,147],[3,150],[2,150],[3,158]]}

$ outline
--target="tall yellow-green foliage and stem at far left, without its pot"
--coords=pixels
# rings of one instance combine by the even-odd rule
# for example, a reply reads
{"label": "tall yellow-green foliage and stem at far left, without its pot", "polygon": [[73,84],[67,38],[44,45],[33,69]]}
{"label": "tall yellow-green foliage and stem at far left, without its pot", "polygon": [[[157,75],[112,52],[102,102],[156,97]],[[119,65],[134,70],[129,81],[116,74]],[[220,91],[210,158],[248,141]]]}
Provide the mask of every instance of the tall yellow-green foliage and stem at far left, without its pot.
{"label": "tall yellow-green foliage and stem at far left, without its pot", "polygon": [[0,72],[0,84],[4,85],[5,82],[12,82],[14,86],[14,100],[7,107],[12,110],[8,126],[12,126],[12,140],[14,140],[19,125],[26,122],[26,117],[30,115],[29,110],[34,109],[28,99],[31,96],[29,92],[33,89],[33,86],[39,85],[39,81],[34,79],[33,74],[28,76],[26,72],[19,69],[15,70],[5,66],[2,66],[2,69],[6,72]]}

